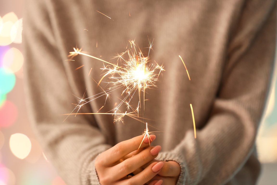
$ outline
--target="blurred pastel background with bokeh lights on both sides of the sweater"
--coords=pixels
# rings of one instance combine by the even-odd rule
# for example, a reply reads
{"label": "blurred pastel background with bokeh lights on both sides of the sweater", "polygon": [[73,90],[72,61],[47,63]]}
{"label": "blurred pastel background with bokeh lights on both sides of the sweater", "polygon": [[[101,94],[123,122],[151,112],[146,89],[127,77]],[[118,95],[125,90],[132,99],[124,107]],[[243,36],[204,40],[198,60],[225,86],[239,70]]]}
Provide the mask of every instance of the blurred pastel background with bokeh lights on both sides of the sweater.
{"label": "blurred pastel background with bokeh lights on both sides of the sweater", "polygon": [[[23,0],[0,4],[0,185],[65,185],[30,128],[23,89]],[[258,185],[277,184],[277,65],[257,137]],[[276,99],[275,99],[276,97]]]}

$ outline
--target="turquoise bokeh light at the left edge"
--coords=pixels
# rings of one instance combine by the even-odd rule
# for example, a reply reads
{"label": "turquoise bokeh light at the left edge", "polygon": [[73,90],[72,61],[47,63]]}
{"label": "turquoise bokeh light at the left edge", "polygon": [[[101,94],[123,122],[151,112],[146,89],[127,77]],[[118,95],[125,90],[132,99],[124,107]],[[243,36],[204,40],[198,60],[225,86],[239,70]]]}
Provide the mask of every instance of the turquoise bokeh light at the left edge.
{"label": "turquoise bokeh light at the left edge", "polygon": [[0,68],[0,94],[7,94],[14,88],[16,77],[13,73],[7,72],[8,69]]}

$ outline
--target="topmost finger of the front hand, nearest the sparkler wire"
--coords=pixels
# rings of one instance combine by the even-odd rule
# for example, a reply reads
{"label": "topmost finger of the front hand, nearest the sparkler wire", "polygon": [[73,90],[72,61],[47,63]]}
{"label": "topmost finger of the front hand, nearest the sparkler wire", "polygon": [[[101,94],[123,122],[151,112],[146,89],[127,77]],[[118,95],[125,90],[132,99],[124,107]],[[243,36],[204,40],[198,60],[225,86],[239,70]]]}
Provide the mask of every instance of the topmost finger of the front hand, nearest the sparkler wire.
{"label": "topmost finger of the front hand, nearest the sparkler wire", "polygon": [[[126,156],[127,154],[137,150],[140,146],[140,143],[143,139],[143,135],[134,137],[130,140],[126,140],[126,141],[122,141],[120,143],[118,143],[117,145],[115,145],[114,147],[104,151],[101,154],[101,157],[103,156],[104,160],[101,160],[102,158],[98,156],[98,160],[101,160],[102,165],[104,166],[109,166],[113,163],[115,163],[116,161],[119,161],[121,158],[123,158],[124,156]],[[152,141],[156,138],[155,135],[150,135],[150,138],[152,139]],[[148,138],[146,137],[143,142],[141,147],[145,147],[149,143]],[[112,157],[111,157],[112,156]],[[109,160],[106,160],[107,158],[109,158]]]}

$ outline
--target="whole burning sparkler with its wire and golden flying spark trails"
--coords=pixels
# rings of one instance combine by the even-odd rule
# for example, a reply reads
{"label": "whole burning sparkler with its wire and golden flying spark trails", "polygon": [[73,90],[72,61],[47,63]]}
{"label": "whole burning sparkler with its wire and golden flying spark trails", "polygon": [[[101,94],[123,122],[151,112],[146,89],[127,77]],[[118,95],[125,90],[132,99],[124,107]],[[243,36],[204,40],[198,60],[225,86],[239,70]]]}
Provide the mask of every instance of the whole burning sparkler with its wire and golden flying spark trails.
{"label": "whole burning sparkler with its wire and golden flying spark trails", "polygon": [[[99,12],[99,13],[101,13],[101,12]],[[137,49],[137,46],[134,44],[134,41],[129,41],[129,42],[130,42],[132,49],[128,49],[125,52],[123,52],[115,57],[115,58],[117,58],[117,62],[120,60],[120,62],[122,63],[121,66],[119,66],[118,64],[112,64],[111,62],[107,62],[105,60],[99,59],[92,55],[85,54],[85,53],[81,52],[81,49],[78,49],[78,48],[77,49],[73,48],[74,51],[70,52],[70,55],[68,55],[68,57],[71,57],[71,59],[74,56],[79,54],[79,55],[85,55],[85,56],[88,56],[88,57],[91,57],[93,59],[103,62],[104,67],[101,69],[104,71],[104,74],[103,74],[102,78],[99,80],[99,83],[97,85],[99,87],[101,87],[100,83],[106,76],[108,76],[110,79],[110,81],[108,81],[106,83],[112,84],[112,87],[108,88],[107,90],[104,90],[101,87],[103,91],[97,95],[93,95],[88,98],[84,98],[84,96],[83,96],[83,98],[78,98],[79,101],[77,104],[75,104],[75,106],[76,106],[75,109],[77,109],[77,113],[75,114],[75,116],[77,114],[114,115],[114,121],[122,121],[123,122],[122,118],[125,115],[127,115],[136,120],[139,120],[138,118],[141,118],[142,124],[143,124],[142,119],[144,118],[144,122],[145,122],[146,90],[148,88],[156,87],[155,82],[157,82],[159,75],[161,74],[162,71],[164,71],[164,69],[163,69],[163,65],[158,65],[156,62],[155,62],[156,64],[153,64],[153,63],[150,64],[149,53],[150,53],[150,49],[152,48],[153,42],[150,43],[148,55],[146,57],[142,54],[142,52],[139,48]],[[127,55],[127,57],[126,57],[126,55]],[[181,56],[179,56],[179,57],[181,58]],[[184,61],[182,58],[181,58],[181,60],[184,64]],[[186,68],[185,64],[184,64],[184,66]],[[81,67],[83,67],[83,66],[81,66]],[[81,67],[79,67],[79,68],[81,68]],[[79,68],[77,68],[77,69],[79,69]],[[91,72],[91,70],[90,70],[90,72]],[[89,72],[89,74],[90,74],[90,72]],[[186,72],[189,77],[187,68],[186,68]],[[190,80],[190,77],[189,77],[189,80]],[[106,104],[106,101],[105,101],[105,104],[96,113],[78,113],[80,108],[83,105],[85,105],[86,103],[89,103],[92,100],[95,100],[96,98],[99,98],[102,96],[106,96],[106,100],[107,100],[107,98],[109,98],[109,94],[112,93],[112,91],[120,89],[122,87],[124,88],[124,90],[122,91],[121,95],[125,94],[125,96],[122,99],[120,99],[121,102],[117,106],[115,105],[115,108],[112,109],[111,111],[106,112],[106,113],[99,113],[99,111],[105,106],[105,104]],[[135,95],[135,93],[137,91],[138,91],[138,95],[139,95],[139,103],[138,103],[137,108],[134,108],[131,105],[131,99],[133,98],[133,96]],[[142,95],[142,92],[143,92],[143,95]],[[139,117],[139,109],[140,109],[140,112],[142,115],[142,101],[143,101],[144,116]],[[120,107],[122,105],[125,105],[125,107],[127,109],[125,111],[125,113],[122,113],[120,111]],[[71,115],[73,113],[73,111],[70,114],[66,114],[66,115],[68,115],[68,116]],[[192,111],[193,123],[194,123],[194,135],[196,138],[195,122],[194,122],[192,105],[191,105],[191,111]],[[143,131],[144,131],[143,132],[144,138],[146,136],[148,138],[150,138],[147,123],[146,123],[146,129]],[[144,138],[143,138],[143,140],[144,140]],[[151,138],[150,138],[150,140],[151,140]],[[141,144],[140,144],[140,146],[141,146]],[[149,145],[150,145],[150,141],[149,141]],[[140,148],[140,146],[139,146],[139,148]]]}

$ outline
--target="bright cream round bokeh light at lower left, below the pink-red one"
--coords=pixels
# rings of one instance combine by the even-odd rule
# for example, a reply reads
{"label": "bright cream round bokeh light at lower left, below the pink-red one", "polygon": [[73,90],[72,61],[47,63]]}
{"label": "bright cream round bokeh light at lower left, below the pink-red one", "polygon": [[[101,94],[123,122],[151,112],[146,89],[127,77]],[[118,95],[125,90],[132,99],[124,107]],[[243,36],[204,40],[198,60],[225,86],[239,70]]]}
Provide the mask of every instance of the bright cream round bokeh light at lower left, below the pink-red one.
{"label": "bright cream round bokeh light at lower left, below the pink-red one", "polygon": [[10,148],[16,157],[24,159],[31,151],[31,141],[26,135],[16,133],[11,135]]}

